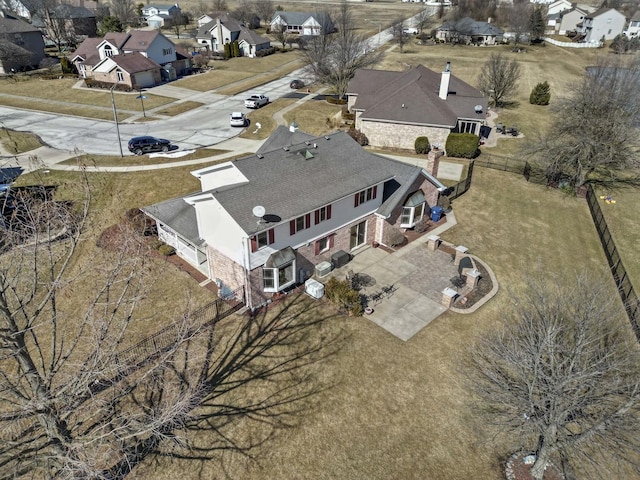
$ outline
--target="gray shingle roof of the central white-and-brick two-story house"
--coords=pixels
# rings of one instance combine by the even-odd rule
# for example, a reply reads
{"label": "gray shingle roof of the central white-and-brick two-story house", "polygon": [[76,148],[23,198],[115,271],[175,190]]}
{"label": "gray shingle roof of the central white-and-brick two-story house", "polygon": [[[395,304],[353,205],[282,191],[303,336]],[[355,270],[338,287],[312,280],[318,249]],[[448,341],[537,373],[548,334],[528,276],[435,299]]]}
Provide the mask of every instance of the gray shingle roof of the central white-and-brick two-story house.
{"label": "gray shingle roof of the central white-and-brick two-story house", "polygon": [[[282,129],[274,135],[272,146],[277,139],[282,141],[286,137]],[[296,132],[288,138],[301,135]],[[260,153],[262,158],[256,154],[234,161],[249,182],[207,193],[220,202],[245,232],[253,234],[258,228],[253,216],[256,205],[265,207],[267,216],[274,215],[286,222],[377,183],[390,181],[391,191],[384,192],[386,198],[379,209],[381,215],[387,216],[397,202],[404,199],[409,182],[422,172],[419,167],[367,152],[344,132],[310,137],[307,141],[309,145],[302,141],[291,145],[288,151],[278,148]],[[312,157],[305,159],[305,152]],[[193,207],[189,206],[191,210],[188,210],[184,205],[184,200],[174,199],[143,210],[193,241],[197,229],[195,213]],[[271,226],[263,223],[260,230]]]}

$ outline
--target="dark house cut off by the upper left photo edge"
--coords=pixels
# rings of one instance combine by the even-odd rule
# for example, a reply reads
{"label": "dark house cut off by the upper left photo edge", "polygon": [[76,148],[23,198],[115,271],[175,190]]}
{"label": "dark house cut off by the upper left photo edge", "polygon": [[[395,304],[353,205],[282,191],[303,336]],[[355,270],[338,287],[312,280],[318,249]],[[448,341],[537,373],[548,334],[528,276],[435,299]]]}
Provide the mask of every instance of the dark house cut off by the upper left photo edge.
{"label": "dark house cut off by the upper left photo edge", "polygon": [[44,57],[42,32],[0,11],[0,74],[37,68]]}

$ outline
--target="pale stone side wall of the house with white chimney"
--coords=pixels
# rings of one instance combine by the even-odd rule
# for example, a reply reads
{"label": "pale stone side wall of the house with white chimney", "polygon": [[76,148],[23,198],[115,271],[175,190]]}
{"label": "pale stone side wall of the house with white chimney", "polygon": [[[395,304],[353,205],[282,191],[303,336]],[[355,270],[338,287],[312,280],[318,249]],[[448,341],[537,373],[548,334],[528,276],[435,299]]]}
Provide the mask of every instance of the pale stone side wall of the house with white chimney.
{"label": "pale stone side wall of the house with white chimney", "polygon": [[[427,137],[431,145],[440,144],[444,149],[451,130],[448,128],[402,125],[359,119],[359,130],[369,139],[373,147],[390,147],[413,150],[418,137]],[[356,125],[356,128],[358,126]]]}

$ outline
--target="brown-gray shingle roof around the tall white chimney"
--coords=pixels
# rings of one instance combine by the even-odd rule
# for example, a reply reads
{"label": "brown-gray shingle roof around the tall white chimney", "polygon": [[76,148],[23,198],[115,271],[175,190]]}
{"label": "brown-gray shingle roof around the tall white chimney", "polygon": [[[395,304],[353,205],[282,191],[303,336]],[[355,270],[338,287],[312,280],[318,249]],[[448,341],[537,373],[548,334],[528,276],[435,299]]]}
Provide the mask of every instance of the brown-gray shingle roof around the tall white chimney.
{"label": "brown-gray shingle roof around the tall white chimney", "polygon": [[[454,75],[446,100],[439,97],[442,74],[422,65],[407,72],[358,70],[347,92],[357,94],[354,105],[362,119],[452,128],[460,118],[481,119],[487,99]],[[476,113],[475,106],[482,112]]]}

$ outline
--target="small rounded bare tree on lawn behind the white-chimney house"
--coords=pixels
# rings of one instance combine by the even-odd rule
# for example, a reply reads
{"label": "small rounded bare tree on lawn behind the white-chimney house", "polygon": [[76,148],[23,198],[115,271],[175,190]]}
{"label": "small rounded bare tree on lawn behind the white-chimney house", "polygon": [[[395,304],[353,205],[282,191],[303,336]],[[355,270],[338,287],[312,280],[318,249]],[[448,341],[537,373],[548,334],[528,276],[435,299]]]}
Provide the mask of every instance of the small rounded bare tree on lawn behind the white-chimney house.
{"label": "small rounded bare tree on lawn behind the white-chimney house", "polygon": [[507,60],[501,53],[492,53],[482,66],[478,77],[478,88],[493,98],[494,105],[500,106],[518,88],[520,64],[517,60]]}

